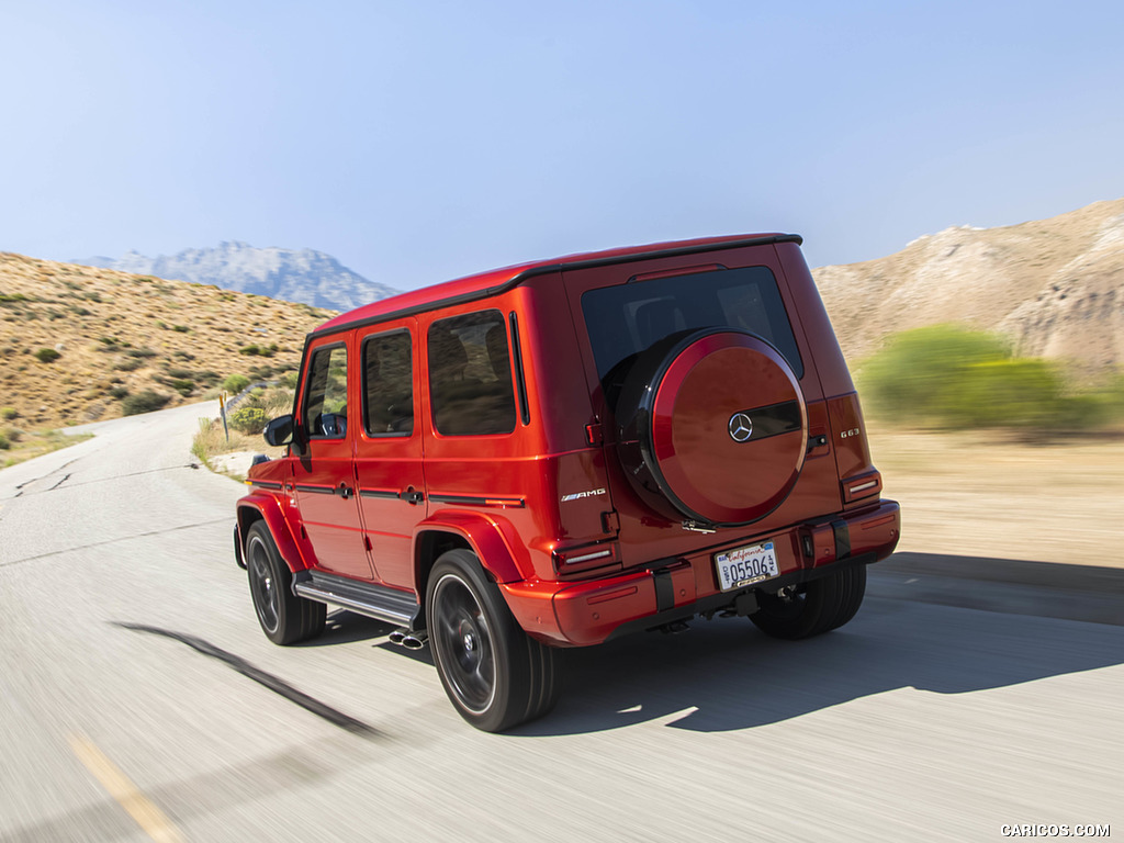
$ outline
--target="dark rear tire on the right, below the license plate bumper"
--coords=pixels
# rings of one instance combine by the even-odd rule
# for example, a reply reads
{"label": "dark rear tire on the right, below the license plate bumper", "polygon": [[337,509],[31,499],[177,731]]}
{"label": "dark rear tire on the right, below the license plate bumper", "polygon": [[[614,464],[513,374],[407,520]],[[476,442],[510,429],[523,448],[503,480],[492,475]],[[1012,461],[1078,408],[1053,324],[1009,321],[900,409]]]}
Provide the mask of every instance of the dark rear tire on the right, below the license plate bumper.
{"label": "dark rear tire on the right, below the license plate bumper", "polygon": [[789,600],[777,595],[759,597],[760,609],[750,620],[774,638],[809,638],[847,623],[865,593],[867,566],[847,565],[831,577],[813,580],[803,595]]}

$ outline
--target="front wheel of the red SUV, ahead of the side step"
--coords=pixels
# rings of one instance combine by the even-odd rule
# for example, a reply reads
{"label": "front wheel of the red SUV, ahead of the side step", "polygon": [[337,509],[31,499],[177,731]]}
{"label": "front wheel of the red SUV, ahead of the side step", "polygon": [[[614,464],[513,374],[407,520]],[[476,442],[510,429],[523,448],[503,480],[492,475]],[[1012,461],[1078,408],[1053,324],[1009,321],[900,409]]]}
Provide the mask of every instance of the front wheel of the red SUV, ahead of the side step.
{"label": "front wheel of the red SUV, ahead of the side step", "polygon": [[296,644],[324,632],[327,607],[292,592],[292,572],[265,522],[246,532],[246,574],[257,623],[274,644]]}

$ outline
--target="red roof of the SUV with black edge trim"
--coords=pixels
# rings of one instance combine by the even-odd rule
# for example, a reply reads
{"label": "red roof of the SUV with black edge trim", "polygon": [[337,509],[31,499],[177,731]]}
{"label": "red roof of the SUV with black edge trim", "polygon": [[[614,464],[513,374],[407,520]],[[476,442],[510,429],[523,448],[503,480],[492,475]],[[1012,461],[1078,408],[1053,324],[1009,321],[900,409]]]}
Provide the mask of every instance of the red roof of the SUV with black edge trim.
{"label": "red roof of the SUV with black edge trim", "polygon": [[529,261],[527,263],[515,264],[514,266],[480,272],[455,281],[446,281],[433,287],[425,287],[420,290],[411,290],[400,296],[392,296],[388,299],[364,305],[329,319],[316,328],[310,336],[328,334],[344,326],[357,327],[390,317],[408,316],[423,310],[429,310],[438,306],[488,298],[515,287],[527,278],[555,272],[563,268],[577,269],[609,263],[626,263],[628,261],[651,257],[673,256],[691,252],[709,252],[731,246],[755,246],[768,243],[799,244],[803,243],[803,238],[798,234],[734,234],[722,237],[699,237],[689,241],[652,243],[645,246],[626,246],[624,248],[610,248],[601,252],[584,252],[545,261]]}

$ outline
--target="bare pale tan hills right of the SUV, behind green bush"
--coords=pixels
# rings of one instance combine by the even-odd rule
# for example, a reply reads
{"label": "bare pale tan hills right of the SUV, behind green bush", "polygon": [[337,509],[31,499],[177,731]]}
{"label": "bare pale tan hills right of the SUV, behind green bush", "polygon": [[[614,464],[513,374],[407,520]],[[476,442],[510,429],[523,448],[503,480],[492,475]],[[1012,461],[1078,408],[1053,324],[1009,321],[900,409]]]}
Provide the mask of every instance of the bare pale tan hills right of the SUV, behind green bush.
{"label": "bare pale tan hills right of the SUV, behind green bush", "polygon": [[1124,199],[1006,228],[949,228],[813,274],[852,361],[894,332],[957,321],[1007,334],[1025,356],[1124,364]]}

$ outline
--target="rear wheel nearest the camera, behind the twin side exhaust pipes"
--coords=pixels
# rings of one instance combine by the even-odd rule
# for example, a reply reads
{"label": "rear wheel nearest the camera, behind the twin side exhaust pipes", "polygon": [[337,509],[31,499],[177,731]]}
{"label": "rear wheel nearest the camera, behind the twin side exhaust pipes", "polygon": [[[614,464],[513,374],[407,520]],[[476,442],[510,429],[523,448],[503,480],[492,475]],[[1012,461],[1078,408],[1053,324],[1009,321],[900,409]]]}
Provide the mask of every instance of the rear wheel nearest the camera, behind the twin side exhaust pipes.
{"label": "rear wheel nearest the camera, behind the twin side exhaust pipes", "polygon": [[426,589],[426,626],[445,694],[477,728],[502,732],[554,707],[558,651],[519,627],[471,551],[437,559]]}

